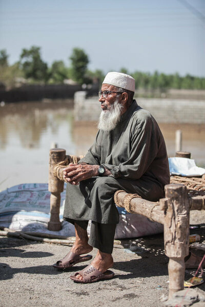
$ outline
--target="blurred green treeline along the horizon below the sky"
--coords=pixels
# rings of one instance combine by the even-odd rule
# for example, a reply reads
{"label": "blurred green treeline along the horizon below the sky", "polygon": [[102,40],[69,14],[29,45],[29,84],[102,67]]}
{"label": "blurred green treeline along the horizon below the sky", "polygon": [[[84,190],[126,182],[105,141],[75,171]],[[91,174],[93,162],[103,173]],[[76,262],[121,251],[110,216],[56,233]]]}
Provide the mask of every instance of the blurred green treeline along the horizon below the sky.
{"label": "blurred green treeline along the horizon below the sky", "polygon": [[[42,59],[40,47],[32,46],[30,49],[23,49],[19,60],[9,65],[7,51],[0,50],[0,82],[7,87],[14,87],[19,82],[32,83],[65,83],[66,80],[73,80],[78,84],[92,84],[103,81],[105,73],[101,70],[90,71],[88,69],[89,57],[83,49],[74,48],[69,57],[70,67],[64,61],[54,61],[50,66]],[[120,72],[130,74],[135,78],[136,89],[160,90],[168,89],[189,89],[205,90],[205,78],[178,73],[166,75],[155,71],[143,73],[139,71],[129,72],[121,68]]]}

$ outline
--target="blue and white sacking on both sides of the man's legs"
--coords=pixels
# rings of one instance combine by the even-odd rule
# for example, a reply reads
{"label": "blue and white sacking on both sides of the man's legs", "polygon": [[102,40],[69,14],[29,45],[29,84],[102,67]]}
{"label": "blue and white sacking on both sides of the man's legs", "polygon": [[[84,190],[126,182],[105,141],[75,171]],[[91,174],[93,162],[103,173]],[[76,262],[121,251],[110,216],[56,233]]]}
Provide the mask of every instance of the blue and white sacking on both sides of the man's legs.
{"label": "blue and white sacking on both sides of the man's legs", "polygon": [[[60,203],[62,229],[49,231],[47,229],[50,220],[48,184],[21,184],[11,187],[0,193],[0,226],[16,231],[37,231],[74,236],[74,226],[63,221],[65,197],[66,191],[64,189],[64,192],[61,193]],[[116,239],[139,237],[163,231],[163,225],[151,222],[145,216],[130,214],[124,208],[118,207],[117,209],[119,224],[116,227]],[[90,232],[90,226],[88,232]]]}

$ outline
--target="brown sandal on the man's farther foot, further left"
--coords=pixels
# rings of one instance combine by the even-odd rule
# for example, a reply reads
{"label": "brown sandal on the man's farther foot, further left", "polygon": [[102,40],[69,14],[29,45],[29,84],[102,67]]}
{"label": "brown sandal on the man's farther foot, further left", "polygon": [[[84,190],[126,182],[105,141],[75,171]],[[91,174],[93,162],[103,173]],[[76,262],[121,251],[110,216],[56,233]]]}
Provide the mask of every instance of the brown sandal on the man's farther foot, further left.
{"label": "brown sandal on the man's farther foot, further left", "polygon": [[92,259],[92,255],[80,256],[73,252],[69,252],[63,259],[60,259],[53,265],[56,269],[68,269],[78,264],[78,262],[84,262]]}

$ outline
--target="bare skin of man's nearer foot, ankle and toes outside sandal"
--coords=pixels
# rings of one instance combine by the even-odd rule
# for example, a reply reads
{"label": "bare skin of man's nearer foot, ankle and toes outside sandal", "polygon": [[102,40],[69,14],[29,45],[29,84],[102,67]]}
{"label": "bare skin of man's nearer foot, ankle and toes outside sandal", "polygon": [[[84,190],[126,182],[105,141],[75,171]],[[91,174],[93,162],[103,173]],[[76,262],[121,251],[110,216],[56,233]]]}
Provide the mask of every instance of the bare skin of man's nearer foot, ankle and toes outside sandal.
{"label": "bare skin of man's nearer foot, ankle and toes outside sandal", "polygon": [[[104,273],[112,267],[113,257],[111,254],[103,253],[98,250],[95,259],[91,262],[91,265],[101,273]],[[76,275],[76,278],[83,280],[83,276],[80,274]]]}

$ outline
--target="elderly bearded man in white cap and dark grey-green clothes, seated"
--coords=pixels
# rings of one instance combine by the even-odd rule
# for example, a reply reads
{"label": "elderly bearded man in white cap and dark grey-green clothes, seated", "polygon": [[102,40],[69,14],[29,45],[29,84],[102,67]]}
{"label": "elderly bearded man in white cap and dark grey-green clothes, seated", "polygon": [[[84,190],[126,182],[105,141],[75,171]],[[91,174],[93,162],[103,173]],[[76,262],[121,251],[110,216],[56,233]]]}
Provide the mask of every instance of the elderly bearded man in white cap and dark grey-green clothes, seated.
{"label": "elderly bearded man in white cap and dark grey-green clothes, seated", "polygon": [[[110,72],[105,77],[99,102],[98,133],[87,155],[64,169],[67,185],[64,220],[74,224],[75,245],[55,268],[69,268],[92,258],[91,265],[71,279],[94,282],[114,276],[112,250],[118,210],[113,196],[117,190],[137,193],[149,201],[163,197],[170,183],[165,141],[152,115],[133,100],[135,80]],[[87,226],[91,222],[90,237]],[[84,255],[84,256],[81,256]]]}

